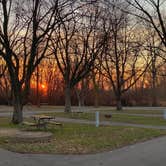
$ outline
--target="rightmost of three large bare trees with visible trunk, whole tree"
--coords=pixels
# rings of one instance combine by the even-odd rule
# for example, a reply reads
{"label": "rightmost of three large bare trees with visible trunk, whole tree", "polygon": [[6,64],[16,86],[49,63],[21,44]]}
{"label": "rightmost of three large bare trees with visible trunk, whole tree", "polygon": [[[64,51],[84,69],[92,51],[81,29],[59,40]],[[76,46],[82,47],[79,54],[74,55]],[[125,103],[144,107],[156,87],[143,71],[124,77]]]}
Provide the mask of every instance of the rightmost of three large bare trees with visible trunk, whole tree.
{"label": "rightmost of three large bare trees with visible trunk, whole tree", "polygon": [[122,109],[122,95],[147,69],[147,64],[143,60],[142,65],[139,64],[142,55],[138,37],[135,35],[137,26],[130,25],[128,14],[118,8],[120,5],[124,7],[126,3],[113,1],[107,6],[109,13],[103,23],[107,34],[103,74],[111,82],[116,96],[117,110]]}

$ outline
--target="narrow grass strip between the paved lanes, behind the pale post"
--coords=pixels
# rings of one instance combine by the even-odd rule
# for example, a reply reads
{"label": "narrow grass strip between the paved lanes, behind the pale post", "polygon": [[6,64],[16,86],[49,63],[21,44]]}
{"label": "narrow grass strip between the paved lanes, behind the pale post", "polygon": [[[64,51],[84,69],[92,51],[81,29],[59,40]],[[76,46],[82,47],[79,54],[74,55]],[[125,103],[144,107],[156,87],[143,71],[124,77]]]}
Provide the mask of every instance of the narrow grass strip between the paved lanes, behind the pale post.
{"label": "narrow grass strip between the paved lanes, behind the pale post", "polygon": [[[74,118],[74,119],[87,119],[87,120],[95,120],[95,113],[47,113],[48,115],[52,115],[55,117],[66,117],[66,118]],[[108,114],[108,112],[106,113]],[[144,116],[134,116],[127,114],[113,114],[111,120],[106,119],[104,113],[100,114],[100,120],[103,121],[112,121],[112,122],[125,122],[125,123],[133,123],[133,124],[145,124],[145,125],[157,125],[162,126],[166,125],[166,120],[163,117],[144,117]]]}

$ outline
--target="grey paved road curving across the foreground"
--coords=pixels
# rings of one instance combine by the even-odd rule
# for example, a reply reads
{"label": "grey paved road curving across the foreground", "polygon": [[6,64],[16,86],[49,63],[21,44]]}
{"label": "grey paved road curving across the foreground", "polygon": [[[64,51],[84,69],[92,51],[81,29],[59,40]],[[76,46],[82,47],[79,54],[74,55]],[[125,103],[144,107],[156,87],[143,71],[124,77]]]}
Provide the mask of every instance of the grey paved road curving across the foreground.
{"label": "grey paved road curving across the foreground", "polygon": [[0,149],[0,166],[165,166],[166,137],[92,155],[17,154]]}

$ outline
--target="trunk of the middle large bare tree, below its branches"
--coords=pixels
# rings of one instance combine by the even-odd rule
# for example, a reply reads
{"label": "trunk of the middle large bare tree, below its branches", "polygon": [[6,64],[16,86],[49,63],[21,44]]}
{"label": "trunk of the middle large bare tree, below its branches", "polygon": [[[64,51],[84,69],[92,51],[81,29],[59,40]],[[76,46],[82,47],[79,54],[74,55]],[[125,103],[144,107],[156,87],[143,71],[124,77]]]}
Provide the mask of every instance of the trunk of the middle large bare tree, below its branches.
{"label": "trunk of the middle large bare tree, below its branches", "polygon": [[71,112],[71,88],[68,84],[65,88],[65,112]]}

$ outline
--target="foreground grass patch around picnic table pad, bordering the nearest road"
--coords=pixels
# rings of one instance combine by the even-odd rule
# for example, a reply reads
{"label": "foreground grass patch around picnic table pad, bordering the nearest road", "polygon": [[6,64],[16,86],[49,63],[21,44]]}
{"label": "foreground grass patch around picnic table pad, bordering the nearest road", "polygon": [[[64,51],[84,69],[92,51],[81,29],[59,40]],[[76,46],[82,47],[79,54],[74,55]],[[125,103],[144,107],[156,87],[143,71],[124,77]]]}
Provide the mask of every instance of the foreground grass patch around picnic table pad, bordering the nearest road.
{"label": "foreground grass patch around picnic table pad, bordering the nearest road", "polygon": [[[12,125],[7,118],[0,118],[0,128],[23,129],[22,126]],[[36,129],[34,128],[34,130]],[[7,137],[0,137],[0,147],[27,153],[86,154],[110,151],[166,135],[166,130],[124,126],[100,126],[96,128],[93,125],[71,123],[65,123],[62,128],[49,127],[48,131],[53,133],[53,139],[50,142],[12,143]]]}

